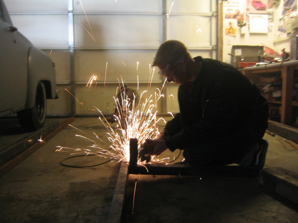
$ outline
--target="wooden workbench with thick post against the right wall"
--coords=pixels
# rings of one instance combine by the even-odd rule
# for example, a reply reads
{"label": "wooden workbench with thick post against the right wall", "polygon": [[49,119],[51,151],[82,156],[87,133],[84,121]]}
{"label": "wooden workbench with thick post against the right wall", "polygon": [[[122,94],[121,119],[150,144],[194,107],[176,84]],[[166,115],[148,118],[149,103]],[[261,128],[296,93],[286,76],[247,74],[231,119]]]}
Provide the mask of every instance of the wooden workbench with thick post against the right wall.
{"label": "wooden workbench with thick post against the right wall", "polygon": [[[274,63],[268,65],[259,65],[254,67],[245,67],[242,69],[243,75],[256,82],[266,82],[262,80],[273,81],[278,75],[282,78],[281,101],[268,99],[268,103],[280,104],[280,122],[291,125],[292,106],[298,106],[297,101],[293,101],[293,82],[294,73],[298,70],[298,60]],[[270,83],[270,81],[269,81]]]}

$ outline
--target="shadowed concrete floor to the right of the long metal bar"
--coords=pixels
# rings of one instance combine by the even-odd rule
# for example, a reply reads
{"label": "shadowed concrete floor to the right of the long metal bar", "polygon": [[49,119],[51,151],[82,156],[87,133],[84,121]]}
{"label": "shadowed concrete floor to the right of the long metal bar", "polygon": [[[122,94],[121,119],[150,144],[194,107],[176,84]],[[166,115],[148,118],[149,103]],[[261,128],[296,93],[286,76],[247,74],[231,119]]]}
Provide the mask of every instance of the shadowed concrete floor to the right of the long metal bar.
{"label": "shadowed concrete floor to the right of the long metal bar", "polygon": [[[264,139],[264,168],[298,173],[298,151],[278,135]],[[297,223],[297,211],[297,205],[263,189],[258,177],[129,175],[122,222]]]}

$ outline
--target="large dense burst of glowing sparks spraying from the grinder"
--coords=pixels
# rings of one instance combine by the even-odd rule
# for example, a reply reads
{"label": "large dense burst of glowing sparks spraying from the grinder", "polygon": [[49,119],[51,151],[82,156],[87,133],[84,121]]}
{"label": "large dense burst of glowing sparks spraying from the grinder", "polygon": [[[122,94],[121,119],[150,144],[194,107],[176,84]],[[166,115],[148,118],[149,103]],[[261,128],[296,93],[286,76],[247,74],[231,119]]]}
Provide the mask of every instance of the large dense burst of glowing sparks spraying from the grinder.
{"label": "large dense burst of glowing sparks spraying from the grinder", "polygon": [[[140,96],[133,95],[133,98],[128,98],[128,95],[125,94],[125,91],[121,92],[121,94],[118,94],[117,97],[114,97],[114,110],[117,112],[115,112],[113,118],[117,122],[116,128],[114,126],[111,126],[110,123],[108,123],[106,118],[103,116],[102,112],[94,106],[94,108],[101,114],[101,117],[99,117],[99,120],[97,121],[105,125],[105,128],[107,130],[107,132],[105,133],[105,137],[108,140],[104,141],[102,137],[98,136],[95,132],[93,132],[94,136],[87,135],[87,137],[85,137],[81,135],[76,135],[78,137],[82,137],[85,140],[87,139],[92,143],[92,145],[88,146],[89,149],[57,146],[59,149],[57,149],[56,151],[74,150],[74,154],[95,154],[97,156],[110,158],[112,159],[112,161],[129,162],[130,139],[138,139],[138,145],[140,146],[142,143],[145,142],[146,139],[155,139],[159,135],[158,128],[156,127],[158,122],[162,121],[166,123],[166,121],[163,118],[156,117],[157,101],[160,98],[164,97],[164,95],[161,93],[162,89],[164,88],[164,84],[165,82],[163,83],[160,89],[157,88],[157,92],[155,92],[154,95],[155,100],[153,99],[153,95],[147,95],[148,90],[141,92]],[[123,80],[121,81],[121,83],[119,81],[119,89],[121,89],[123,85]],[[85,109],[85,111],[87,110]],[[94,148],[97,151],[92,152],[90,150],[91,148]],[[164,162],[168,159],[169,158],[159,159],[156,156],[152,156],[151,163]],[[143,165],[145,164],[145,161],[141,162],[140,160],[138,160],[138,164]]]}

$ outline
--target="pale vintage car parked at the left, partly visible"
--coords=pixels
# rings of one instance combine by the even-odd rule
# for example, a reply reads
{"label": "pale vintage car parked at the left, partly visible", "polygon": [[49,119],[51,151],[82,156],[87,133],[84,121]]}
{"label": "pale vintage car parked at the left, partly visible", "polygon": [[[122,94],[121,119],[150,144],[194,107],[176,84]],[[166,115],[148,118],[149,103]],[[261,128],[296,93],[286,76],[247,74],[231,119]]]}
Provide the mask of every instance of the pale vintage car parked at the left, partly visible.
{"label": "pale vintage car parked at the left, partly visible", "polygon": [[0,117],[16,112],[35,131],[44,125],[46,98],[58,98],[55,64],[18,32],[0,0]]}

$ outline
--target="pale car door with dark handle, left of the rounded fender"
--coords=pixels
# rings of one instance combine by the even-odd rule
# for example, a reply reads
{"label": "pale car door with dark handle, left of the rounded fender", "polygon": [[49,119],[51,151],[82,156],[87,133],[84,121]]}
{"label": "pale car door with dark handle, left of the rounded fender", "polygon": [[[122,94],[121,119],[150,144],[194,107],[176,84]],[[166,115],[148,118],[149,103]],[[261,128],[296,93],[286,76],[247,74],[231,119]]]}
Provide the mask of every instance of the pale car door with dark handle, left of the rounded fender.
{"label": "pale car door with dark handle, left of the rounded fender", "polygon": [[[8,17],[8,18],[7,18]],[[0,1],[0,116],[24,109],[27,97],[28,49]]]}

